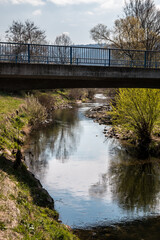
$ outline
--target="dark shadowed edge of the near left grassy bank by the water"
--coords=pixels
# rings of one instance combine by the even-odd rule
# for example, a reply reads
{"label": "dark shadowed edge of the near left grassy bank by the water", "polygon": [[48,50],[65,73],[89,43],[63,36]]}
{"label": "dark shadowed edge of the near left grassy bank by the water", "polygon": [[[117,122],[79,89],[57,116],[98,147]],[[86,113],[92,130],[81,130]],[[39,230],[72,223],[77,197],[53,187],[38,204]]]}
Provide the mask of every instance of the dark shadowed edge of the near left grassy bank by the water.
{"label": "dark shadowed edge of the near left grassy bank by the water", "polygon": [[[15,169],[13,161],[0,156],[0,169],[6,172],[10,178],[14,178],[24,190],[29,189],[34,204],[54,210],[53,199],[23,163]],[[54,218],[58,218],[56,212]]]}

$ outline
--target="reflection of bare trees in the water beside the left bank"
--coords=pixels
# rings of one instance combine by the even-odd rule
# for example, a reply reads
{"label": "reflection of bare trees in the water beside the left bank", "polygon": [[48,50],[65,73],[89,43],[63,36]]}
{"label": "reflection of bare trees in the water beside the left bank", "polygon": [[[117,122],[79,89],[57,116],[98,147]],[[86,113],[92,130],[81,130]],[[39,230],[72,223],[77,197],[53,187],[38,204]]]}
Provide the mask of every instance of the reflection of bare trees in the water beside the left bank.
{"label": "reflection of bare trees in the water beside the left bank", "polygon": [[48,159],[55,156],[64,163],[76,151],[80,138],[77,117],[77,109],[57,110],[50,126],[33,133],[34,141],[25,153],[27,165],[33,172],[45,175]]}

